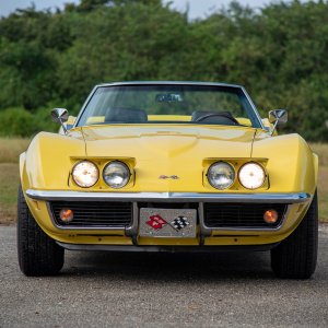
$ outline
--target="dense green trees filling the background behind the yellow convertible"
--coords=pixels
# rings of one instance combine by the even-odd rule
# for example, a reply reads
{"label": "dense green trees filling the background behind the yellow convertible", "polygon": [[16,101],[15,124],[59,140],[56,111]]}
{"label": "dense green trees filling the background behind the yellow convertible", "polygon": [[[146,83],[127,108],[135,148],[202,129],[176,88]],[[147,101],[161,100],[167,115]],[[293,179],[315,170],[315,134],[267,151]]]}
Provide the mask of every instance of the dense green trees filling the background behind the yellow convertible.
{"label": "dense green trees filling the background behind the yellow convertible", "polygon": [[218,81],[245,85],[262,116],[288,108],[286,131],[328,140],[327,1],[256,11],[234,1],[187,16],[161,0],[81,0],[2,17],[0,116],[52,104],[77,113],[102,82]]}

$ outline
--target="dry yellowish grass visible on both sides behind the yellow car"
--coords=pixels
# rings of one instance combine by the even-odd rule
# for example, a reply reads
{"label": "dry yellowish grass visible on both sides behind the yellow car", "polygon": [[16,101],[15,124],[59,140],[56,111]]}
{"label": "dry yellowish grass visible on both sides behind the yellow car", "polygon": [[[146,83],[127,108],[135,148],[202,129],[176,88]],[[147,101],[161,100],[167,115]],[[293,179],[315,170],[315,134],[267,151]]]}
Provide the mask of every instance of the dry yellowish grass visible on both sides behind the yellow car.
{"label": "dry yellowish grass visible on both sides behind the yellow car", "polygon": [[[28,139],[0,138],[0,224],[15,222],[19,155],[27,149],[28,143]],[[319,218],[328,223],[328,143],[313,143],[311,148],[319,155]]]}

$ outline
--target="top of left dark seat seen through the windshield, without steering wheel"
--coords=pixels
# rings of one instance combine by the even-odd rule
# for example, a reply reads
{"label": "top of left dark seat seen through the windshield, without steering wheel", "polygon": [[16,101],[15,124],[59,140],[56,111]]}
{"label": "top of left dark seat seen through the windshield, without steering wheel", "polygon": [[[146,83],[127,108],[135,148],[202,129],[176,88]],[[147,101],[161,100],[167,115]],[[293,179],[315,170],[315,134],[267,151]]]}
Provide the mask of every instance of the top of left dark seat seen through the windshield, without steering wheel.
{"label": "top of left dark seat seen through the windshield, without steering wheel", "polygon": [[110,108],[105,116],[105,122],[147,122],[147,113],[138,108]]}

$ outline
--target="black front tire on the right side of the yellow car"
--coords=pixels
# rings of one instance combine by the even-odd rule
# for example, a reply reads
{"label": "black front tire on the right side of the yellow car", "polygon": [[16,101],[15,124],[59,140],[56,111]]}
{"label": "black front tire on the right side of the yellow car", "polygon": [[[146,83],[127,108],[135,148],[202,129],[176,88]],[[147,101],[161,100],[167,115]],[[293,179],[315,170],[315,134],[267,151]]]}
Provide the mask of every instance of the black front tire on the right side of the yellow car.
{"label": "black front tire on the right side of the yellow car", "polygon": [[314,273],[318,253],[317,192],[296,230],[271,250],[271,267],[279,278],[308,279]]}

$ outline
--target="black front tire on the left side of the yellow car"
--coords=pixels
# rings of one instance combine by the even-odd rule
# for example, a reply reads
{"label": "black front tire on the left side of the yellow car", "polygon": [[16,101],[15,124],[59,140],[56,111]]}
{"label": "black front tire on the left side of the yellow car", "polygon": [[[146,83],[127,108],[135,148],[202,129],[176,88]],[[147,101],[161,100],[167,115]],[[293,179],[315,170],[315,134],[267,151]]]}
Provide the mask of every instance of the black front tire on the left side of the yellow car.
{"label": "black front tire on the left side of the yellow car", "polygon": [[35,222],[21,186],[17,197],[17,254],[25,276],[54,276],[63,266],[65,250]]}

